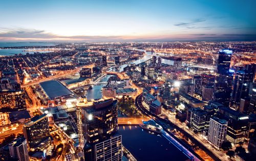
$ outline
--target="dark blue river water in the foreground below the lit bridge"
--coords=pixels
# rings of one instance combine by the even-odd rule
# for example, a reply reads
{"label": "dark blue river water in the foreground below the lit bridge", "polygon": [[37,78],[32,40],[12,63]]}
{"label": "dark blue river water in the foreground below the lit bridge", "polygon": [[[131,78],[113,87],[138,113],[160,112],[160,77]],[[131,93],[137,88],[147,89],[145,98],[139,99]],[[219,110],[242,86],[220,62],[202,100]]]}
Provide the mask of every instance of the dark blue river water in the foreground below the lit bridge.
{"label": "dark blue river water in the foreground below the lit bridge", "polygon": [[140,126],[118,126],[122,144],[137,160],[187,160],[188,157],[162,135]]}

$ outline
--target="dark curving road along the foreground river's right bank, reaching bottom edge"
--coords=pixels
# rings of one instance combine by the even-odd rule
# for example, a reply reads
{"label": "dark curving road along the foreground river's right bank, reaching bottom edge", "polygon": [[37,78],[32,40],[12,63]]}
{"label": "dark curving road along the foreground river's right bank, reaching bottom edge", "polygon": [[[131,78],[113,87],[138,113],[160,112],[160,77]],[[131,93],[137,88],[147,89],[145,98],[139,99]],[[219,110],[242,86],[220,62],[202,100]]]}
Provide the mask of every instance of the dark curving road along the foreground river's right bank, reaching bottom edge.
{"label": "dark curving road along the foreground river's right bank, reaching bottom edge", "polygon": [[[191,136],[188,132],[186,132],[183,128],[180,128],[179,126],[177,126],[176,124],[174,124],[173,122],[170,122],[169,120],[165,120],[165,119],[162,119],[161,117],[157,116],[157,115],[154,115],[154,114],[151,114],[149,111],[147,111],[144,106],[142,105],[142,94],[139,95],[138,97],[136,97],[136,100],[135,100],[135,104],[137,106],[137,108],[139,110],[141,110],[146,116],[149,116],[151,118],[153,118],[158,124],[160,125],[163,125],[162,122],[166,122],[167,124],[173,126],[174,128],[176,128],[178,131],[180,131],[181,133],[183,133],[184,136],[186,136],[188,139],[191,140],[191,142],[195,143],[200,149],[202,149],[204,152],[206,152],[212,159],[214,160],[217,160],[217,161],[221,161],[220,157],[221,156],[218,156],[216,155],[215,153],[213,153],[211,150],[207,149],[204,144],[201,144],[199,141],[197,141],[197,139],[194,138],[194,136]],[[161,121],[161,122],[160,122]],[[163,129],[168,133],[168,135],[176,138],[171,132],[169,132],[163,125]],[[176,140],[179,140],[176,138]],[[181,142],[182,144],[182,142]],[[189,150],[189,149],[188,149]],[[190,152],[194,153],[196,156],[198,154],[196,154],[194,152],[193,149],[190,149],[189,150]],[[199,156],[200,157],[200,156]]]}

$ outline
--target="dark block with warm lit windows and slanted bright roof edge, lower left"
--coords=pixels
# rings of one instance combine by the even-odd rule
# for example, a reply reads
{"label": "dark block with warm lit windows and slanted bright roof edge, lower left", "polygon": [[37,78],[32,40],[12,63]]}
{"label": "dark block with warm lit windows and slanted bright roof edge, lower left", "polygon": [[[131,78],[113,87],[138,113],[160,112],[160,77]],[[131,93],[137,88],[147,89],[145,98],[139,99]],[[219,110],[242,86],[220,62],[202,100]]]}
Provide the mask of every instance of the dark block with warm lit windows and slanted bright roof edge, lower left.
{"label": "dark block with warm lit windows and slanted bright roof edge, lower left", "polygon": [[47,148],[51,143],[47,115],[43,114],[31,118],[31,121],[24,124],[23,133],[28,141],[29,149],[43,150]]}

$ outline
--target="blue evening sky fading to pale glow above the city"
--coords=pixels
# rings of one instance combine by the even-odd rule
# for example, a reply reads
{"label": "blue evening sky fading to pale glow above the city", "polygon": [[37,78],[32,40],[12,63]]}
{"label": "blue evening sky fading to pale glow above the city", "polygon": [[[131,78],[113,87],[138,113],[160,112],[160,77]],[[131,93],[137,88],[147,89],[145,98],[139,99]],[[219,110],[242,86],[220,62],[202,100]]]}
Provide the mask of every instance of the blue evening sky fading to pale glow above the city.
{"label": "blue evening sky fading to pale glow above the city", "polygon": [[0,41],[255,41],[254,0],[1,1]]}

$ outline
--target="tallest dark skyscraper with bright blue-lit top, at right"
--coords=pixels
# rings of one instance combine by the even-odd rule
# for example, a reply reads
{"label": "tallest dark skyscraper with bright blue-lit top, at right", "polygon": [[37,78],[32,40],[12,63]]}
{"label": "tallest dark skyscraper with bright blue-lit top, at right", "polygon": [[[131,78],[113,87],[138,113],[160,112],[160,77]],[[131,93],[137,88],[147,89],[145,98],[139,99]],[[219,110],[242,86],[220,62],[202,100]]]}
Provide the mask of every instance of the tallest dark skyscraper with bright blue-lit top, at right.
{"label": "tallest dark skyscraper with bright blue-lit top, at right", "polygon": [[214,99],[224,106],[229,106],[230,94],[232,91],[231,85],[233,76],[229,72],[231,56],[231,50],[219,51],[217,73],[215,77]]}

